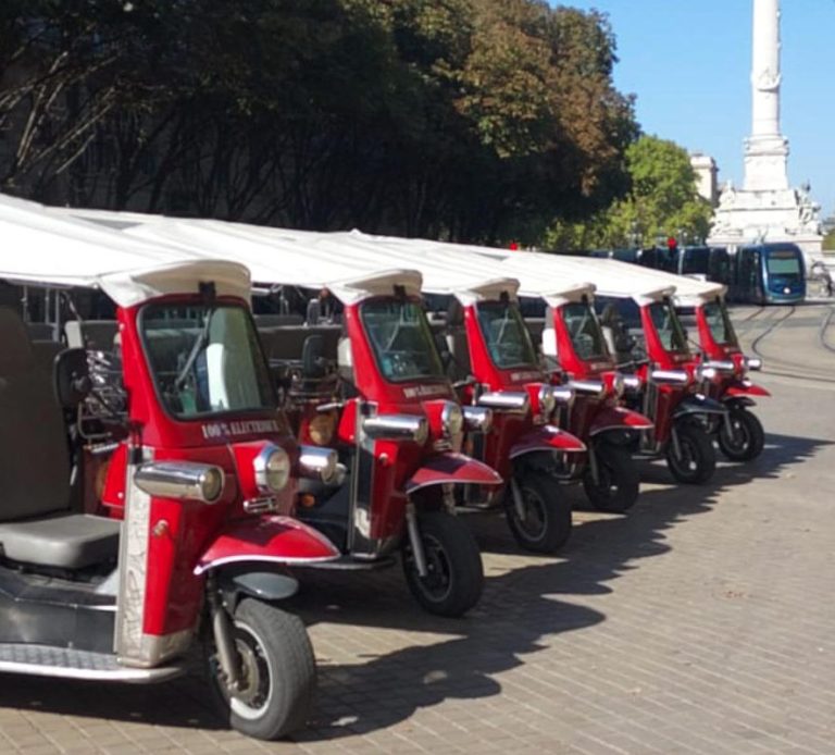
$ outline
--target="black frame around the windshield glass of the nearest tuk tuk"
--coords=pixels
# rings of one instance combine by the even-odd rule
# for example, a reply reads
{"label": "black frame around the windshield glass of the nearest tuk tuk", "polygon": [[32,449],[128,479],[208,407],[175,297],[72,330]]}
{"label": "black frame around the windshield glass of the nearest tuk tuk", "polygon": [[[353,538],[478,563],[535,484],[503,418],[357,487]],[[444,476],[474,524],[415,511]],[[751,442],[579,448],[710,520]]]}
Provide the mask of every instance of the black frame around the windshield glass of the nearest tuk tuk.
{"label": "black frame around the windshield glass of the nearest tuk tuk", "polygon": [[[253,358],[253,367],[256,368],[256,381],[259,385],[259,391],[261,393],[261,399],[263,405],[260,407],[246,407],[240,409],[223,409],[223,410],[209,410],[209,411],[199,411],[190,414],[182,414],[173,410],[171,406],[169,406],[169,403],[165,400],[165,397],[162,393],[162,386],[160,384],[160,381],[157,375],[155,366],[153,362],[153,352],[151,348],[149,347],[149,339],[147,337],[147,331],[146,331],[146,320],[148,319],[149,312],[153,312],[154,310],[159,309],[176,309],[176,308],[212,308],[212,309],[237,309],[240,310],[244,313],[247,334],[249,336],[248,342],[250,344],[252,358]],[[145,358],[146,368],[148,370],[148,374],[151,379],[151,385],[153,386],[153,393],[154,397],[157,398],[157,403],[163,410],[163,412],[170,417],[171,419],[177,421],[177,422],[204,422],[207,419],[223,419],[223,418],[235,418],[235,417],[263,417],[265,413],[276,413],[279,411],[278,407],[278,398],[275,392],[275,385],[273,384],[273,380],[270,372],[269,362],[266,360],[266,356],[264,354],[263,344],[261,343],[261,338],[258,336],[258,329],[256,327],[256,323],[252,320],[252,312],[246,305],[241,304],[237,299],[228,299],[225,297],[219,297],[216,299],[205,300],[205,299],[191,299],[191,300],[184,300],[184,299],[175,299],[175,300],[154,300],[149,301],[142,305],[140,308],[137,320],[136,320],[136,331],[137,335],[139,336],[139,343],[141,344],[142,348],[142,356]],[[194,345],[195,342],[192,342]],[[259,384],[258,381],[258,372],[261,371],[261,382]]]}

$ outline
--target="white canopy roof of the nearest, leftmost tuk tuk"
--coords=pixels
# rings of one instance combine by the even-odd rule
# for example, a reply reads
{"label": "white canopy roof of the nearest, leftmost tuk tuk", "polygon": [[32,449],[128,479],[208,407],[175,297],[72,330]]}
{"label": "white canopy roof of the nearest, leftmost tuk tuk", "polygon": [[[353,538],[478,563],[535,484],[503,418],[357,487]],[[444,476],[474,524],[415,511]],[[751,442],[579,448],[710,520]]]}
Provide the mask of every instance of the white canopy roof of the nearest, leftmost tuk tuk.
{"label": "white canopy roof of the nearest, leftmost tuk tuk", "polygon": [[3,195],[0,237],[0,277],[5,280],[101,288],[124,307],[197,292],[208,282],[220,295],[249,296],[249,275],[239,264],[133,239]]}

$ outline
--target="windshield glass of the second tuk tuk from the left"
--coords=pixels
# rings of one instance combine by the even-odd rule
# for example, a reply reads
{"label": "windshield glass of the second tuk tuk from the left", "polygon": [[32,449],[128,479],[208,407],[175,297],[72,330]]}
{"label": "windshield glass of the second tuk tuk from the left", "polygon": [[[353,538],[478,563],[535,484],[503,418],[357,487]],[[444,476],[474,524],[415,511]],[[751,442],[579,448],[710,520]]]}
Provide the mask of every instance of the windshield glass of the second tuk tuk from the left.
{"label": "windshield glass of the second tuk tuk from the left", "polygon": [[360,306],[360,319],[386,380],[403,383],[445,378],[420,305],[408,299],[369,299]]}

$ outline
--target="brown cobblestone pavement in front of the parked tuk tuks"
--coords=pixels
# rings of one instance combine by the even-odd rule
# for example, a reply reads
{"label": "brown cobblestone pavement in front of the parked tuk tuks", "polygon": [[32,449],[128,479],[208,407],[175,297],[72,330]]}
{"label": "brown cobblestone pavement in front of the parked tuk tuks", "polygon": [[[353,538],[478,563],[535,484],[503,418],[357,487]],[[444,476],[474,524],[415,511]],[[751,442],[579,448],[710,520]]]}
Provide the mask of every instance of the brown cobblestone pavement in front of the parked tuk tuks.
{"label": "brown cobblestone pavement in front of the parked tuk tuks", "polygon": [[703,488],[647,463],[630,516],[578,511],[559,558],[473,519],[466,619],[422,614],[398,569],[307,579],[320,696],[294,742],[225,730],[197,677],[4,676],[0,753],[833,753],[833,386],[761,382],[760,459]]}

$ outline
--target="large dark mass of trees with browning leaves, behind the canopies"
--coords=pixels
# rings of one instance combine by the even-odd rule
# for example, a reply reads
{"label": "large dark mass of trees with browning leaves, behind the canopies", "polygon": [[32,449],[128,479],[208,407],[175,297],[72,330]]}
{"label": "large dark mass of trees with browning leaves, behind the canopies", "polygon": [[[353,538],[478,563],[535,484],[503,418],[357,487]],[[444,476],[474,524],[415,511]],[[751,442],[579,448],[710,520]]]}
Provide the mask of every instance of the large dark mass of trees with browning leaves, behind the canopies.
{"label": "large dark mass of trees with browning leaves, behind the canopies", "polygon": [[532,243],[628,187],[614,49],[539,0],[4,0],[0,189]]}

